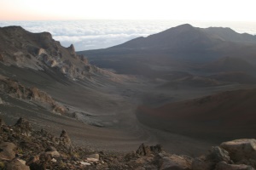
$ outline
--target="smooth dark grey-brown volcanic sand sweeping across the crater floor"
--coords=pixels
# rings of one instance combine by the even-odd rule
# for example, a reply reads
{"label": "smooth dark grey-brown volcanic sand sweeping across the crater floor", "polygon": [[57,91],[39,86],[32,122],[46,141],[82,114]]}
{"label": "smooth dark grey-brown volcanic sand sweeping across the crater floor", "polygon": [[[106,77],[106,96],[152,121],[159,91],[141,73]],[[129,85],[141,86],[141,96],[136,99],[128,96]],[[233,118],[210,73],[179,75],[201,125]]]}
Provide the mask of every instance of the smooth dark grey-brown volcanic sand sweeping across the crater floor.
{"label": "smooth dark grey-brown volcanic sand sweeping across the crater floor", "polygon": [[13,74],[15,79],[26,86],[37,86],[44,90],[66,105],[71,112],[86,115],[78,121],[74,117],[55,115],[29,101],[24,102],[20,99],[12,99],[6,94],[0,94],[5,102],[0,105],[0,116],[5,122],[14,124],[22,116],[29,119],[34,127],[43,127],[56,135],[61,133],[61,129],[66,129],[74,144],[89,146],[96,150],[130,151],[137,150],[139,144],[146,143],[162,144],[164,149],[171,153],[198,156],[215,143],[146,127],[137,121],[137,106],[160,105],[177,100],[193,99],[217,91],[241,88],[226,86],[166,91],[155,88],[158,84],[146,81],[116,83],[101,81],[101,78],[97,78],[90,79],[88,82],[73,82],[63,79],[61,75],[42,71],[16,67],[6,67],[3,70],[2,74],[9,77],[10,72],[12,74],[15,72]]}

